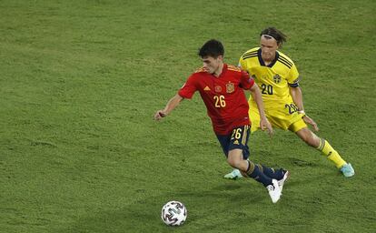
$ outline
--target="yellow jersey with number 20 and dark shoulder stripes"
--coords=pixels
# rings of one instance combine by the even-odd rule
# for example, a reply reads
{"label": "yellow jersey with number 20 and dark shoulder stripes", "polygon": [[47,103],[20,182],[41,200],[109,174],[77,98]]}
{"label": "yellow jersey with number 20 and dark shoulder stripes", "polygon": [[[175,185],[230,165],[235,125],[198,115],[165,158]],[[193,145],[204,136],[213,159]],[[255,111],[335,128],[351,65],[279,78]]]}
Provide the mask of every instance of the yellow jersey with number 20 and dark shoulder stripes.
{"label": "yellow jersey with number 20 and dark shoulder stripes", "polygon": [[[299,73],[288,56],[276,51],[274,61],[265,66],[261,48],[254,47],[241,56],[239,66],[247,71],[260,87],[265,110],[293,103],[289,86],[299,86]],[[252,96],[249,103],[255,106]]]}

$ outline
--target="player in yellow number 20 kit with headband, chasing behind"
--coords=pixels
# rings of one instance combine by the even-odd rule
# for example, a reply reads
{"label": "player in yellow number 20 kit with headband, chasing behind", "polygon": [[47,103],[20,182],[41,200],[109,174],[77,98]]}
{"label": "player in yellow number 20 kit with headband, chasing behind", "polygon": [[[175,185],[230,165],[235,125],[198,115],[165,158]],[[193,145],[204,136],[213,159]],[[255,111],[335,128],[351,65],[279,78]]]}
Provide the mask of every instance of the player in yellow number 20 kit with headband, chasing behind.
{"label": "player in yellow number 20 kit with headband, chasing behind", "polygon": [[[260,47],[245,52],[240,58],[239,66],[247,71],[260,87],[265,115],[272,127],[292,131],[306,144],[328,157],[344,177],[354,176],[351,164],[343,160],[327,140],[316,136],[307,127],[308,124],[314,131],[319,130],[317,124],[304,111],[298,69],[288,56],[277,50],[285,41],[286,35],[274,27],[262,30]],[[252,96],[249,105],[251,131],[254,132],[260,125],[260,116]],[[238,178],[242,177],[242,174],[235,169],[224,177]]]}

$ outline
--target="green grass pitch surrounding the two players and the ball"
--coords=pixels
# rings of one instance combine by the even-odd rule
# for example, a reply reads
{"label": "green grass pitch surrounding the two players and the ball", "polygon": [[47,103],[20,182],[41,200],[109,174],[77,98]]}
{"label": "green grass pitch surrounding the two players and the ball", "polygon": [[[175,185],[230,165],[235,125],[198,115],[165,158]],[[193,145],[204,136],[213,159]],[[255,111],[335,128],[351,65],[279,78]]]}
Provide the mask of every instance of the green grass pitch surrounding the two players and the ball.
{"label": "green grass pitch surrounding the two players and the ball", "polygon": [[[0,232],[375,232],[376,2],[0,0]],[[196,94],[154,111],[211,38],[237,65],[264,27],[302,75],[305,110],[356,170],[298,137],[252,135],[292,177],[273,205],[231,169]],[[188,209],[163,225],[169,200]]]}

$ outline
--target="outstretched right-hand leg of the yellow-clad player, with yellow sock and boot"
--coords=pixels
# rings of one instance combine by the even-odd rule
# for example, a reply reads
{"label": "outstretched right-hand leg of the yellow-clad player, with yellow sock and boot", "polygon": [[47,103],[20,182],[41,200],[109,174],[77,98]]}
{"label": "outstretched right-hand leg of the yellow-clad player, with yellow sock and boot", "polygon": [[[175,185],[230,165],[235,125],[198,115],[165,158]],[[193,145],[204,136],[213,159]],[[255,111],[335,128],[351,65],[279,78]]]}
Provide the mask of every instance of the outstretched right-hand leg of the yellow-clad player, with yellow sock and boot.
{"label": "outstretched right-hand leg of the yellow-clad player, with yellow sock and boot", "polygon": [[352,177],[355,172],[351,167],[351,164],[348,164],[340,154],[331,147],[331,144],[321,138],[317,137],[303,122],[303,120],[297,121],[292,124],[289,128],[292,132],[295,132],[298,137],[300,137],[306,144],[311,147],[316,148],[321,151],[323,155],[328,157],[334,165],[339,168],[345,177]]}

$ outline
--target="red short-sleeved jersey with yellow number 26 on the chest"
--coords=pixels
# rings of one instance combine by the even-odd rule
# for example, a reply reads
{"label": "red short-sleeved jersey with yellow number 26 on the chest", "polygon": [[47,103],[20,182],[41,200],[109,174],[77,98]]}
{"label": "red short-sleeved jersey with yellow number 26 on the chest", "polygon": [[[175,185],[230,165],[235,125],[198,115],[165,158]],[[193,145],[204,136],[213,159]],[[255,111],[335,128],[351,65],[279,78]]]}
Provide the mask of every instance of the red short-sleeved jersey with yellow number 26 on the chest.
{"label": "red short-sleeved jersey with yellow number 26 on the chest", "polygon": [[248,102],[242,89],[250,89],[254,80],[240,68],[223,64],[220,76],[207,73],[203,68],[189,76],[179,90],[179,96],[192,98],[199,91],[218,135],[229,134],[234,127],[250,125]]}

